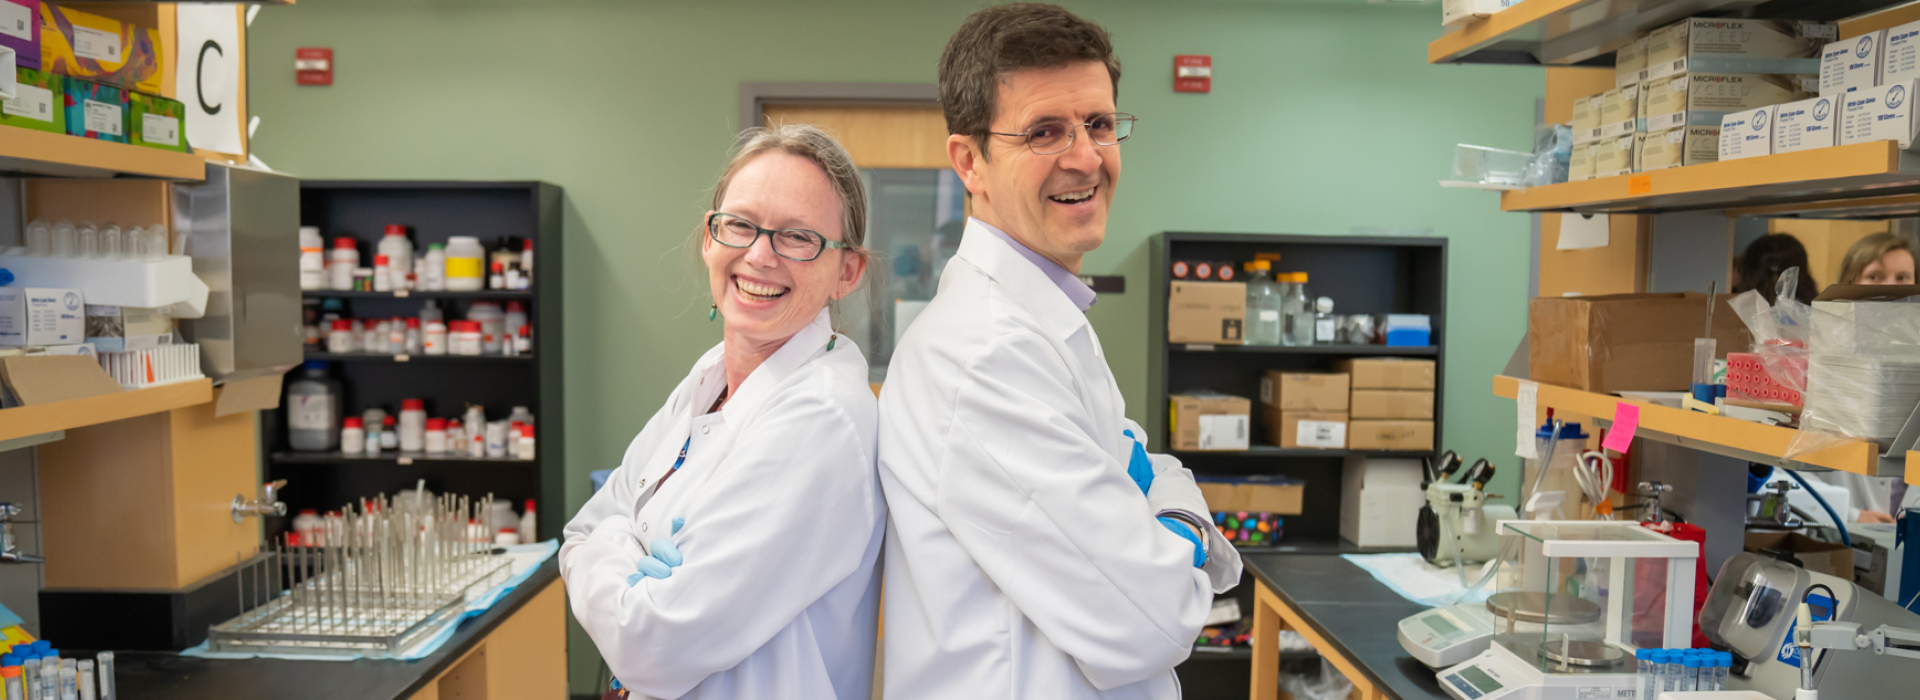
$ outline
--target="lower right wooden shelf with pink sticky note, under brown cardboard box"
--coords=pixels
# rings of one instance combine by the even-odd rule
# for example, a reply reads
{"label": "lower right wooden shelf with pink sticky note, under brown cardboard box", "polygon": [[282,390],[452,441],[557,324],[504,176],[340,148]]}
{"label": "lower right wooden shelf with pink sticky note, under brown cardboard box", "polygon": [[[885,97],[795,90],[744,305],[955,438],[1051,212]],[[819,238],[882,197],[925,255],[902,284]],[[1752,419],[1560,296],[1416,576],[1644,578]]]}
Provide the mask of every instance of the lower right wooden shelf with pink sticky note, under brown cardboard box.
{"label": "lower right wooden shelf with pink sticky note, under brown cardboard box", "polygon": [[[1494,378],[1496,397],[1515,399],[1519,397],[1519,389],[1521,380],[1511,376]],[[1544,408],[1590,416],[1603,426],[1613,424],[1613,410],[1617,405],[1630,403],[1640,407],[1640,428],[1634,432],[1636,437],[1774,466],[1818,466],[1836,472],[1866,476],[1880,474],[1880,445],[1864,439],[1855,439],[1839,447],[1801,455],[1789,460],[1786,458],[1786,453],[1795,433],[1791,428],[1764,426],[1751,420],[1713,416],[1549,384],[1540,384],[1536,401]]]}

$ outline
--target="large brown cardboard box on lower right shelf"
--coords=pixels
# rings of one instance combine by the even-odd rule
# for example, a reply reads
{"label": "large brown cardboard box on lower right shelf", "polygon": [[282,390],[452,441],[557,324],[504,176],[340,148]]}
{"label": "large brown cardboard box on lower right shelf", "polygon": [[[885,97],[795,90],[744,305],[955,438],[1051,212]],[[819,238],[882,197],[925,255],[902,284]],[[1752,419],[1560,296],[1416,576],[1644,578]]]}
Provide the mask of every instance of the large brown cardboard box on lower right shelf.
{"label": "large brown cardboard box on lower right shelf", "polygon": [[[1718,357],[1753,347],[1726,299],[1713,313]],[[1686,391],[1705,320],[1707,295],[1697,292],[1538,297],[1526,305],[1528,372],[1540,384],[1596,393]]]}

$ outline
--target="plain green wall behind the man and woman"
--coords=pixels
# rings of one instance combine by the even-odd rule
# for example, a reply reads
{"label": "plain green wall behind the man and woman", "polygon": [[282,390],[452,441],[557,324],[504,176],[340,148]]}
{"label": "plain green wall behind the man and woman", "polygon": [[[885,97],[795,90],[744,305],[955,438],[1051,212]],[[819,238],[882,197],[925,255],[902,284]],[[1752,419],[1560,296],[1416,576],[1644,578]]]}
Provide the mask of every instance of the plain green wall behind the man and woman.
{"label": "plain green wall behind the man and woman", "polygon": [[[979,2],[301,0],[250,33],[255,153],[309,178],[538,178],[566,188],[568,502],[701,351],[705,280],[682,245],[739,128],[743,81],[933,82]],[[1511,455],[1496,374],[1524,332],[1528,219],[1442,190],[1455,142],[1526,150],[1542,73],[1432,67],[1436,6],[1068,2],[1121,61],[1125,146],[1108,242],[1087,272],[1146,288],[1162,230],[1452,240],[1444,443]],[[294,84],[294,48],[334,48],[326,88]],[[1171,56],[1212,54],[1204,96],[1173,94]],[[547,280],[553,284],[553,280]],[[1146,393],[1146,297],[1091,313],[1129,412]],[[1503,470],[1511,479],[1519,470]],[[1511,483],[1511,481],[1509,481]],[[1511,487],[1496,491],[1513,493]],[[559,518],[561,510],[547,510]],[[574,631],[572,687],[591,642]]]}

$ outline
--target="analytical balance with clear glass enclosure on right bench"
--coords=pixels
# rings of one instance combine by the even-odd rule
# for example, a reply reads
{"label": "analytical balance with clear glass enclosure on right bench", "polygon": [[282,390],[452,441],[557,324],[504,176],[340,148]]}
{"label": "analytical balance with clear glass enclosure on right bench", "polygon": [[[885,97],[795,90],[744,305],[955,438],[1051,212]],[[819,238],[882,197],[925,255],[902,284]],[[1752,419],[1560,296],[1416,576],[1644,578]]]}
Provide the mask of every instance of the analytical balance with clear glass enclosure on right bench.
{"label": "analytical balance with clear glass enclosure on right bench", "polygon": [[1699,545],[1632,522],[1513,520],[1486,652],[1438,673],[1457,700],[1634,700],[1634,650],[1692,646]]}

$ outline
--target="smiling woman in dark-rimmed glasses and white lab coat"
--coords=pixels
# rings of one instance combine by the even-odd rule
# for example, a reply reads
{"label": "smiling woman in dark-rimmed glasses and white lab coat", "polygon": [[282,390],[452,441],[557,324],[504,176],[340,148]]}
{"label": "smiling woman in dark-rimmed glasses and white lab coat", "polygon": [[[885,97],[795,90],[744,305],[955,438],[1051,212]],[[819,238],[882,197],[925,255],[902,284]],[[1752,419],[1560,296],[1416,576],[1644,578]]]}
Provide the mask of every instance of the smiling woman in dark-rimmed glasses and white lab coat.
{"label": "smiling woman in dark-rimmed glasses and white lab coat", "polygon": [[699,245],[722,341],[566,524],[574,618],[636,698],[866,700],[885,506],[868,364],[828,303],[866,194],[803,125],[751,130]]}

